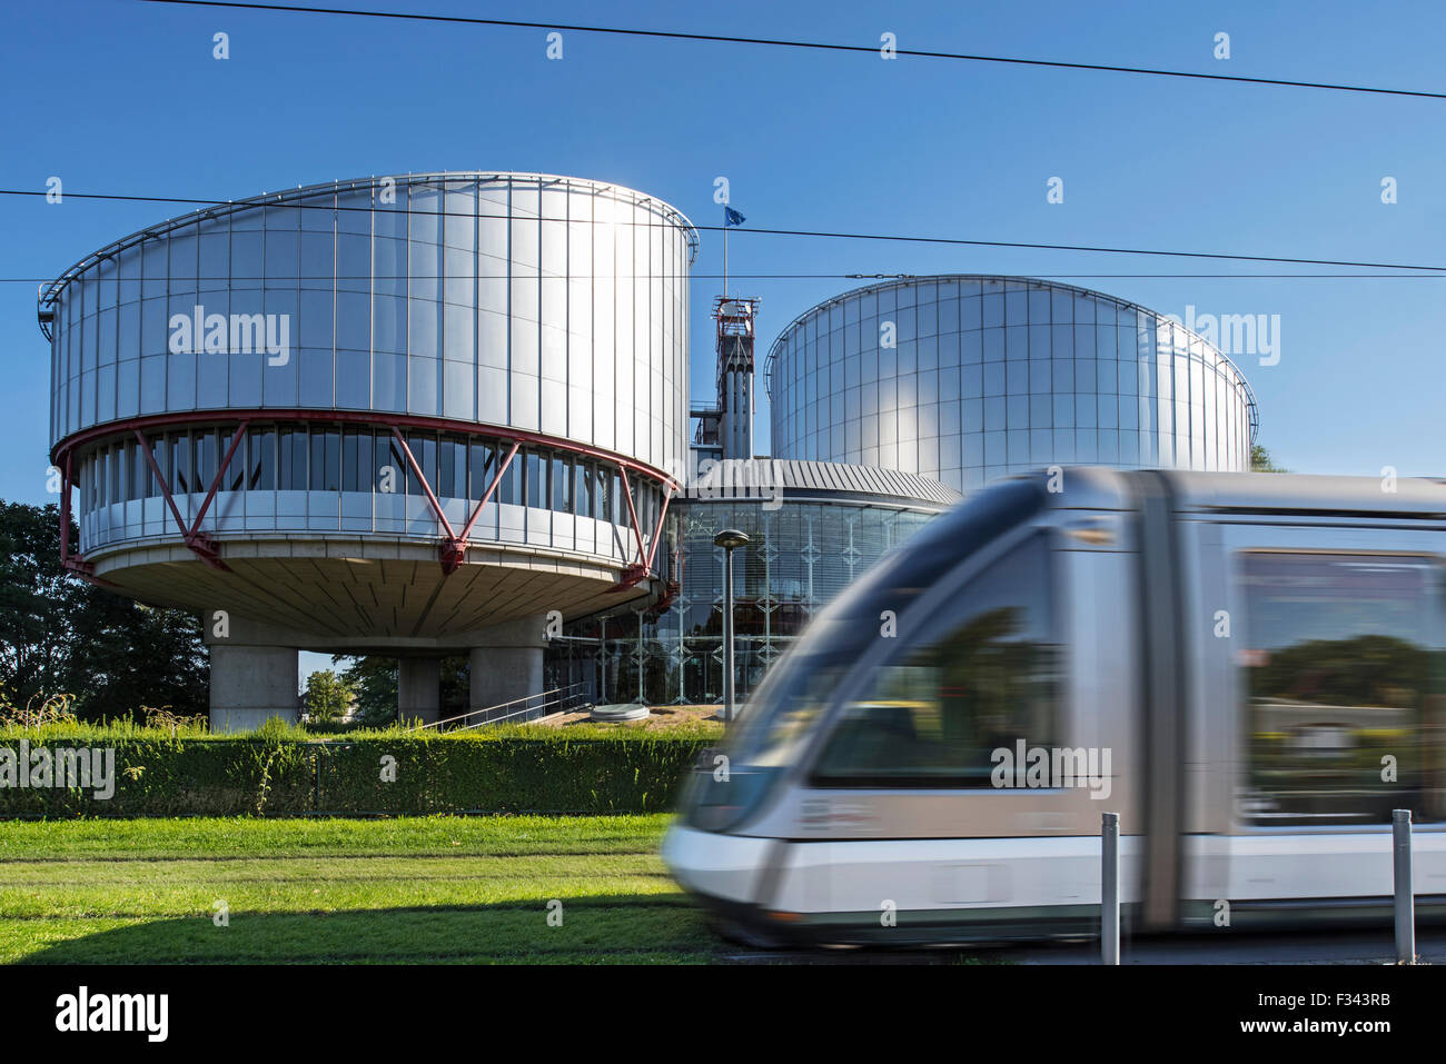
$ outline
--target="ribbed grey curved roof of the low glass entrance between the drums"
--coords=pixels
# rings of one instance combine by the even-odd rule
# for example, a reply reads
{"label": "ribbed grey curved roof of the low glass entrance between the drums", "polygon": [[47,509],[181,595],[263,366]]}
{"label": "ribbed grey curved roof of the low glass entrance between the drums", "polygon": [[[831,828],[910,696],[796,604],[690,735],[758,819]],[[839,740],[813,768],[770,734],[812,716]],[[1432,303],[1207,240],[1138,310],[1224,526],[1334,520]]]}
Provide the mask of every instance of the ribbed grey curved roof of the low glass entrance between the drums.
{"label": "ribbed grey curved roof of the low glass entrance between the drums", "polygon": [[868,499],[931,510],[963,496],[947,484],[878,466],[795,458],[724,458],[688,483],[680,502],[736,502],[794,497]]}

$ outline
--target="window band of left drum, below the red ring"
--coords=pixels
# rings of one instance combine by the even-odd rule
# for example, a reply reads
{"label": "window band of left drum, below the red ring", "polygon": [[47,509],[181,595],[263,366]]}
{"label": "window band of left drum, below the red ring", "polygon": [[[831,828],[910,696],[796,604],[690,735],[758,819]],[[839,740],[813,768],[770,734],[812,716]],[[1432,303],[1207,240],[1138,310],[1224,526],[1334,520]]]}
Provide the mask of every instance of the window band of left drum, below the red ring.
{"label": "window band of left drum, below the red ring", "polygon": [[[182,428],[88,450],[77,466],[81,539],[106,548],[146,538],[174,539],[175,519],[192,519],[210,492],[236,426]],[[454,529],[466,526],[510,439],[411,429],[406,445]],[[152,458],[155,467],[152,467]],[[159,477],[158,477],[159,471]],[[654,481],[629,480],[645,539],[658,520]],[[285,422],[252,424],[220,481],[205,528],[221,533],[351,532],[437,535],[422,480],[386,428]],[[476,539],[536,544],[636,559],[632,512],[617,467],[544,445],[518,450],[471,531]]]}

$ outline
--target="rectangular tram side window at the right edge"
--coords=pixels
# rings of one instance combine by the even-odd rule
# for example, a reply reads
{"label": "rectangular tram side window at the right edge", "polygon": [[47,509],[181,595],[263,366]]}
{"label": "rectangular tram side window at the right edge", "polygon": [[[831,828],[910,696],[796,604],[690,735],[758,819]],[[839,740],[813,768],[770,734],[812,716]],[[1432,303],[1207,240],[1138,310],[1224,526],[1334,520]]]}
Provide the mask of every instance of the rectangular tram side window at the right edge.
{"label": "rectangular tram side window at the right edge", "polygon": [[1446,818],[1442,565],[1245,552],[1241,817],[1255,827]]}

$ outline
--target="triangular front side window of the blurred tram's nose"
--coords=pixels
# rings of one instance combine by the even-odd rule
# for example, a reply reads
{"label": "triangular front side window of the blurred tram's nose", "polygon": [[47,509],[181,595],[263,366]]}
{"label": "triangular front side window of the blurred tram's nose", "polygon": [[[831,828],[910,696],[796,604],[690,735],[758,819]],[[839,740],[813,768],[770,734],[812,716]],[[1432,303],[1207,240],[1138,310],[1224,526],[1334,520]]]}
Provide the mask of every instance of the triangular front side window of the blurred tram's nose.
{"label": "triangular front side window of the blurred tram's nose", "polygon": [[1043,535],[975,577],[931,627],[937,635],[901,646],[846,708],[817,784],[983,789],[995,750],[1058,746],[1063,655]]}

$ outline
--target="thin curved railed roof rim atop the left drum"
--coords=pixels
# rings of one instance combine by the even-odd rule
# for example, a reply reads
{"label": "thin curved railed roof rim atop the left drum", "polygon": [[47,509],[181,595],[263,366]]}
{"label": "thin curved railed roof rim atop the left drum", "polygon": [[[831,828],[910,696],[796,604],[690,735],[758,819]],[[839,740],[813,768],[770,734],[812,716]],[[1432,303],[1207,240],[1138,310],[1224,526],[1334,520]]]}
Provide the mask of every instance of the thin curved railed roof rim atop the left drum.
{"label": "thin curved railed roof rim atop the left drum", "polygon": [[[655,195],[648,195],[636,188],[629,188],[628,185],[617,185],[610,181],[594,181],[593,178],[578,178],[568,176],[564,173],[531,173],[528,171],[432,171],[421,173],[380,173],[370,178],[353,178],[351,181],[330,181],[317,185],[298,185],[296,188],[289,188],[279,192],[262,192],[260,195],[253,195],[246,200],[227,200],[224,202],[208,202],[205,207],[200,207],[188,214],[178,215],[175,218],[168,218],[156,226],[146,226],[142,230],[132,233],[127,237],[114,240],[104,247],[91,252],[84,259],[77,262],[68,270],[61,273],[55,280],[45,285],[40,289],[38,304],[43,308],[46,304],[54,304],[59,293],[69,285],[75,278],[78,278],[85,270],[100,265],[106,259],[111,259],[120,252],[139,244],[142,240],[165,236],[166,233],[175,231],[185,226],[195,224],[198,221],[208,221],[213,218],[220,218],[227,214],[233,214],[241,210],[252,210],[256,207],[278,207],[283,204],[294,202],[296,200],[309,200],[311,197],[324,195],[327,192],[356,192],[360,189],[375,189],[382,181],[395,181],[399,186],[411,188],[412,185],[432,184],[438,181],[477,181],[477,179],[510,179],[510,178],[525,178],[536,179],[542,182],[577,182],[580,185],[589,185],[596,189],[610,189],[619,192],[625,197],[632,197],[636,204],[652,204],[658,208],[661,214],[668,217],[674,224],[677,224],[688,237],[688,263],[697,262],[698,257],[698,230],[694,227],[693,221],[680,211],[672,204],[659,200]],[[178,200],[175,202],[185,202]],[[445,214],[445,211],[432,211],[432,214]],[[43,330],[42,330],[43,331]]]}

